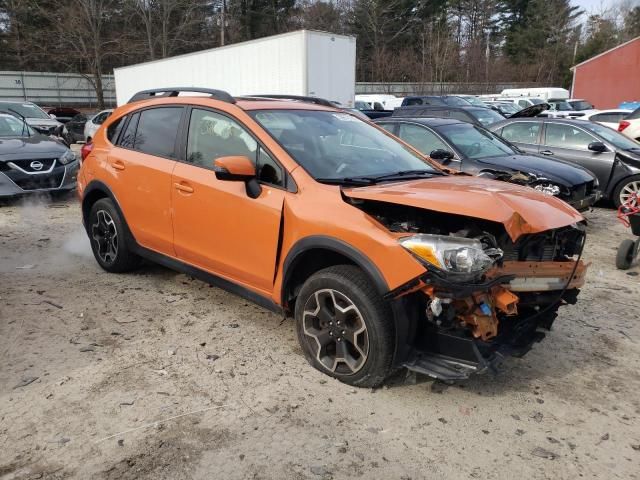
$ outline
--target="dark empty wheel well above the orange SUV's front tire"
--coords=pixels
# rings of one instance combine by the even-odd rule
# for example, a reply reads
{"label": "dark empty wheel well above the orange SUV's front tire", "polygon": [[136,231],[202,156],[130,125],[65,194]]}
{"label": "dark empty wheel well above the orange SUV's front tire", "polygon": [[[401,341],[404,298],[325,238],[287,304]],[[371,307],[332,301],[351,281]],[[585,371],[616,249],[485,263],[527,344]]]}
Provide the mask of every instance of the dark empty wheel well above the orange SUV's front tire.
{"label": "dark empty wheel well above the orange SUV's front tire", "polygon": [[293,312],[298,292],[307,278],[334,265],[356,265],[356,263],[346,255],[327,248],[312,248],[296,256],[294,264],[285,272],[285,284],[282,286],[285,309]]}

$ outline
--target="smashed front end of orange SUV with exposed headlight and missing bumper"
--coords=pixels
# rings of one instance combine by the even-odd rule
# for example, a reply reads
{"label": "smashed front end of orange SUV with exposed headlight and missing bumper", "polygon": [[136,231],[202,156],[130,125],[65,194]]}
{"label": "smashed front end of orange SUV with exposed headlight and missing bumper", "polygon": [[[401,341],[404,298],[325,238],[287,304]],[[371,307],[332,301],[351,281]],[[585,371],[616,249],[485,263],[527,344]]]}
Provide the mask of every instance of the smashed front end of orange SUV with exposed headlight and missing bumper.
{"label": "smashed front end of orange SUV with exposed headlight and missing bumper", "polygon": [[545,336],[584,284],[581,223],[516,240],[505,226],[406,205],[354,201],[425,273],[386,295],[398,325],[398,366],[446,381],[494,370]]}

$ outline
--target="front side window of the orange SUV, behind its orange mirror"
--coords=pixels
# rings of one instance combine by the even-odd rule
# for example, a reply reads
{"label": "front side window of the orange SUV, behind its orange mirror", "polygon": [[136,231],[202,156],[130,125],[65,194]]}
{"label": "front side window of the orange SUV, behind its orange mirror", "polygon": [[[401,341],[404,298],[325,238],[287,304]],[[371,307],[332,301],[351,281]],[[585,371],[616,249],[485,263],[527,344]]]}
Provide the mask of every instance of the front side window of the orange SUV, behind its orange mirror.
{"label": "front side window of the orange SUV, behind its orange mirror", "polygon": [[282,167],[236,121],[209,110],[194,109],[189,121],[187,162],[212,169],[220,157],[248,157],[256,166],[258,180],[284,186]]}

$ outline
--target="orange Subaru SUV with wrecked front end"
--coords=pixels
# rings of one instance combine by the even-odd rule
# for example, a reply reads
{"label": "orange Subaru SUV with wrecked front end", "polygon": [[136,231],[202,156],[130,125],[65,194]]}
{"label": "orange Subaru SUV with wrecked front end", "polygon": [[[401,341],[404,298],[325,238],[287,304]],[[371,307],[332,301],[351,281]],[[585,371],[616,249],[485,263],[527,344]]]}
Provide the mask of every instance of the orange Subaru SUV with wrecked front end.
{"label": "orange Subaru SUV with wrecked front end", "polygon": [[584,283],[573,208],[448,174],[338,109],[149,90],[93,141],[78,193],[103,269],[145,258],[291,315],[308,361],[351,385],[491,370]]}

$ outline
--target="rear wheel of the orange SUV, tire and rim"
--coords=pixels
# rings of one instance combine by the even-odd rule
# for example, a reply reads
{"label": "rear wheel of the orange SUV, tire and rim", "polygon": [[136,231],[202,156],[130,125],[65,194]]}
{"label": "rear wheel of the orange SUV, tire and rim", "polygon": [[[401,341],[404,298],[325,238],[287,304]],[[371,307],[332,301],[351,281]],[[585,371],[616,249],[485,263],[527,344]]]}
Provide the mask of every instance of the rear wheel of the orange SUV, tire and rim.
{"label": "rear wheel of the orange SUV, tire and rim", "polygon": [[101,198],[91,207],[87,225],[93,256],[107,272],[122,273],[140,264],[129,243],[128,231],[118,210],[109,198]]}

